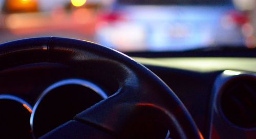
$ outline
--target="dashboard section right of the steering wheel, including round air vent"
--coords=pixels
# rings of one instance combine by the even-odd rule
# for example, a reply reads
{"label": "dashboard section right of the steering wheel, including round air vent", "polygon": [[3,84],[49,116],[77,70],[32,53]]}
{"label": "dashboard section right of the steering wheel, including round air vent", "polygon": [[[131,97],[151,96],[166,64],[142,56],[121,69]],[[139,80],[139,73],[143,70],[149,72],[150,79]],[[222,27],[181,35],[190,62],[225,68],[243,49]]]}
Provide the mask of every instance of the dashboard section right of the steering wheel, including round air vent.
{"label": "dashboard section right of the steering wheel, including round air vent", "polygon": [[255,58],[135,58],[181,99],[205,138],[255,138]]}

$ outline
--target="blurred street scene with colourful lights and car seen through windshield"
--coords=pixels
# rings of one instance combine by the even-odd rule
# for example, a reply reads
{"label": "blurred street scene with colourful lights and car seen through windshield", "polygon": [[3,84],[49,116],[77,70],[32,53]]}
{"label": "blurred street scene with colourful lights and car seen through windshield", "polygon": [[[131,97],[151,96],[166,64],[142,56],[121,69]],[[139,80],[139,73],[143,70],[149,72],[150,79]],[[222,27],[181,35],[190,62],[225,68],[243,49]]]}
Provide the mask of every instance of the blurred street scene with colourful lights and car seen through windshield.
{"label": "blurred street scene with colourful lights and car seen through windshield", "polygon": [[120,51],[256,47],[255,0],[0,0],[0,43],[59,36]]}

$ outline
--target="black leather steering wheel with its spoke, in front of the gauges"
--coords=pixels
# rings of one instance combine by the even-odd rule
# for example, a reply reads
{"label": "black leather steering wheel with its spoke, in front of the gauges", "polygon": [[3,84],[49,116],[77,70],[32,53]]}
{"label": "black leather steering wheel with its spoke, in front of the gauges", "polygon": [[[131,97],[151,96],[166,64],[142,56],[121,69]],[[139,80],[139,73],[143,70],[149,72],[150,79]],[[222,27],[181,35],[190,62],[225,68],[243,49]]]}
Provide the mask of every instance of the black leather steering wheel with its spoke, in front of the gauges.
{"label": "black leather steering wheel with its spoke, in front of the gauges", "polygon": [[[187,109],[153,72],[116,50],[57,37],[0,45],[1,69],[49,62],[114,72],[117,91],[40,138],[203,138]],[[90,64],[89,64],[90,63]],[[57,101],[57,100],[56,100]],[[14,132],[15,133],[15,132]]]}

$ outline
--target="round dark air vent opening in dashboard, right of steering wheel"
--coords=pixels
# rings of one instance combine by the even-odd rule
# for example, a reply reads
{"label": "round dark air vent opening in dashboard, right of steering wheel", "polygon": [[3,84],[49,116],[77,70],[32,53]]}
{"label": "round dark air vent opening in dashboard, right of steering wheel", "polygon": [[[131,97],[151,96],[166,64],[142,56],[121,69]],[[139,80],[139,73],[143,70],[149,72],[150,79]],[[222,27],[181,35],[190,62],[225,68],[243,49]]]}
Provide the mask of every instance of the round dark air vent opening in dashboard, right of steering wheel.
{"label": "round dark air vent opening in dashboard, right of steering wheel", "polygon": [[238,77],[222,88],[221,110],[226,119],[242,128],[256,127],[256,79]]}

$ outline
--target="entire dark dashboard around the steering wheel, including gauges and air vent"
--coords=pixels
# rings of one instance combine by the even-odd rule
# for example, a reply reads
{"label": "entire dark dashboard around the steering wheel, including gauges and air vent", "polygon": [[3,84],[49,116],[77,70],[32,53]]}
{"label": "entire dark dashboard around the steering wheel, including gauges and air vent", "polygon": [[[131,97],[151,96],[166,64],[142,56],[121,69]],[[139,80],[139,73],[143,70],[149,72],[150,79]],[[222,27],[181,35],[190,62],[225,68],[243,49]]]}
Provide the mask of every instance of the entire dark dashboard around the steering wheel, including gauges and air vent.
{"label": "entire dark dashboard around the steering wheel, including gauges and air vent", "polygon": [[[204,138],[255,138],[255,58],[134,59],[175,92]],[[115,69],[104,68],[108,64],[92,65],[97,68],[91,71],[44,62],[0,71],[0,107],[7,113],[1,122],[11,125],[4,132],[19,130],[39,138],[113,95],[118,82]],[[20,119],[12,117],[14,111]],[[18,127],[17,121],[27,126]]]}

